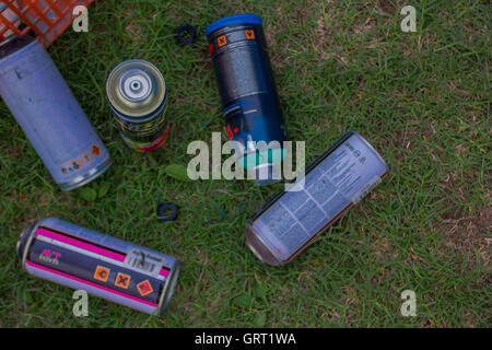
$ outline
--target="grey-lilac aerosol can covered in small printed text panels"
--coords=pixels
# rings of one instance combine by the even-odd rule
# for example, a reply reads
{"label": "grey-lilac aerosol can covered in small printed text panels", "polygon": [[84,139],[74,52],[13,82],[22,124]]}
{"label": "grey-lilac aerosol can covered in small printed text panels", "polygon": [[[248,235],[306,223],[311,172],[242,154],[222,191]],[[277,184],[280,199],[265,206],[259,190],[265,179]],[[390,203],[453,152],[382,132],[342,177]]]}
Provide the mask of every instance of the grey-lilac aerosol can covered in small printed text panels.
{"label": "grey-lilac aerosol can covered in small printed text panels", "polygon": [[291,261],[388,171],[367,141],[347,132],[306,168],[304,184],[295,185],[298,190],[278,194],[248,221],[246,245],[263,262]]}

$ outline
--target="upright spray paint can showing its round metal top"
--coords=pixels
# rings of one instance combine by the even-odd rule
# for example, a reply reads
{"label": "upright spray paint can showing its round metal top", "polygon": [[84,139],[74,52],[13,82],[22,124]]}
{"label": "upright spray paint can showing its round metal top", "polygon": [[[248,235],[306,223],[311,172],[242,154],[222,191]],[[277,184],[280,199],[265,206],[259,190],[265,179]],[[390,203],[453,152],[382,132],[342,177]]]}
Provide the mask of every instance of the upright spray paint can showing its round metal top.
{"label": "upright spray paint can showing its round metal top", "polygon": [[169,133],[166,82],[151,62],[130,59],[116,66],[106,94],[125,143],[133,150],[159,149]]}

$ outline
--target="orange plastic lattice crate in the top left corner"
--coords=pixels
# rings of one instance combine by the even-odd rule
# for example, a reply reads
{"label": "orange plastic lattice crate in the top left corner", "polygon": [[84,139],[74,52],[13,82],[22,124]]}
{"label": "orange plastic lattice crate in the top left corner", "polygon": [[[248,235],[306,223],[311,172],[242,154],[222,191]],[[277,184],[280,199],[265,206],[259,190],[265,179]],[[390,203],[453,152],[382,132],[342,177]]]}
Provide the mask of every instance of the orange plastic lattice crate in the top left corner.
{"label": "orange plastic lattice crate in the top left corner", "polygon": [[73,9],[89,7],[92,2],[94,0],[0,0],[0,42],[32,30],[49,46],[72,23]]}

